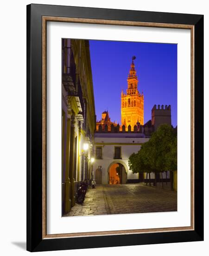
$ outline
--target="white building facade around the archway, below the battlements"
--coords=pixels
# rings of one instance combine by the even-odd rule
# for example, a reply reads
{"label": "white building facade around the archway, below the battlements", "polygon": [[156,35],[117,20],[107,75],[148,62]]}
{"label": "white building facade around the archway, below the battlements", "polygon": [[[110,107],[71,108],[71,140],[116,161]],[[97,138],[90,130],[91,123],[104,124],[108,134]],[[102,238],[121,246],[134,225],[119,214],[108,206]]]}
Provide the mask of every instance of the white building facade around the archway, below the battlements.
{"label": "white building facade around the archway, below the battlements", "polygon": [[141,145],[148,140],[149,138],[141,133],[95,133],[93,178],[99,184],[111,184],[111,167],[119,164],[121,166],[119,183],[139,180],[139,174],[133,174],[129,169],[128,159],[131,154],[137,153]]}

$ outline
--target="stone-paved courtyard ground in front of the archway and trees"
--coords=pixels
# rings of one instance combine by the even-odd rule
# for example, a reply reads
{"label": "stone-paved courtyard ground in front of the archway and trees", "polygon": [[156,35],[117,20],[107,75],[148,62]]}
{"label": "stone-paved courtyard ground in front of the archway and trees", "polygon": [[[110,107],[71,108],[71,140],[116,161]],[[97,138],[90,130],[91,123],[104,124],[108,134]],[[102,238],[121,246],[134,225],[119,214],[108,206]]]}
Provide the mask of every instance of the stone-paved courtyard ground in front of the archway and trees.
{"label": "stone-paved courtyard ground in front of the archway and trees", "polygon": [[144,183],[89,187],[82,205],[76,203],[66,216],[177,211],[177,192]]}

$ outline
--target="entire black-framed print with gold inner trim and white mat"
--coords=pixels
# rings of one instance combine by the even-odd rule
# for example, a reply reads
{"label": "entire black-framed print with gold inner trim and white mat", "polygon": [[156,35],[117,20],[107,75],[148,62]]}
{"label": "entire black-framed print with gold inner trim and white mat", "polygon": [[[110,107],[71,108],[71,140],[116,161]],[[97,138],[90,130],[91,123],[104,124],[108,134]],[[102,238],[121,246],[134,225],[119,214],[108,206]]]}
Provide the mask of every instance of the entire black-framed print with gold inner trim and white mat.
{"label": "entire black-framed print with gold inner trim and white mat", "polygon": [[203,240],[203,15],[27,6],[27,250]]}

